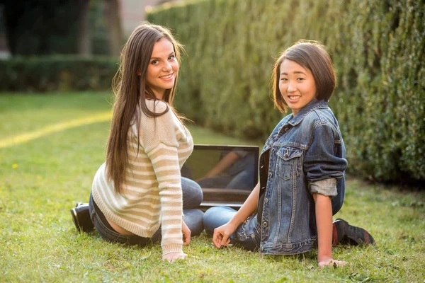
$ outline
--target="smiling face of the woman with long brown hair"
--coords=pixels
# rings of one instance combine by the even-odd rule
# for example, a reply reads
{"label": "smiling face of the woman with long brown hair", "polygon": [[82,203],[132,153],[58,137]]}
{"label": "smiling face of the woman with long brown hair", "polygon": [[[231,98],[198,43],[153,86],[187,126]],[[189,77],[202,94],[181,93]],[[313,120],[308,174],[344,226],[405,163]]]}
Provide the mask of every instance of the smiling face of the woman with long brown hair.
{"label": "smiling face of the woman with long brown hair", "polygon": [[166,38],[155,42],[147,67],[146,83],[157,99],[162,100],[165,91],[173,88],[178,71],[179,62],[173,44]]}

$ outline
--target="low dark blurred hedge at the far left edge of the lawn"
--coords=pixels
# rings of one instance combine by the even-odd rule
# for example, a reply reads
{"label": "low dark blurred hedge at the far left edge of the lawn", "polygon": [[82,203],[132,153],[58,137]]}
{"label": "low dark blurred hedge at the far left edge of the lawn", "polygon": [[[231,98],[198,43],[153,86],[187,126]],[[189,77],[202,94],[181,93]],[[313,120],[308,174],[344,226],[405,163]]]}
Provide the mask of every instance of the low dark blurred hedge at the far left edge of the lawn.
{"label": "low dark blurred hedge at the far left edge of the lawn", "polygon": [[114,57],[16,57],[0,60],[0,91],[84,91],[111,88]]}

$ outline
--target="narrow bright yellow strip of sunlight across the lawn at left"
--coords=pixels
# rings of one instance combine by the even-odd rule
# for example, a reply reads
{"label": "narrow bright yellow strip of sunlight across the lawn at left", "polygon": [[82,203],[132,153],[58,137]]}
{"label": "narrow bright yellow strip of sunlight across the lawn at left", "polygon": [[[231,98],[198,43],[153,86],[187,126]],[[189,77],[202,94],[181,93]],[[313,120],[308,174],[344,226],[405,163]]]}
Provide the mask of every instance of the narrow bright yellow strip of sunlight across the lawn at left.
{"label": "narrow bright yellow strip of sunlight across the lawn at left", "polygon": [[0,149],[3,149],[8,146],[15,146],[17,144],[23,144],[26,141],[38,139],[40,137],[44,137],[47,134],[52,134],[54,132],[61,132],[64,129],[70,129],[70,128],[79,127],[82,125],[89,125],[89,124],[93,124],[97,122],[106,122],[111,119],[112,119],[112,112],[107,111],[107,112],[101,112],[96,115],[91,115],[84,118],[79,118],[75,120],[56,123],[53,125],[48,125],[46,127],[42,127],[41,129],[37,129],[33,132],[18,134],[14,137],[8,137],[6,139],[0,139]]}

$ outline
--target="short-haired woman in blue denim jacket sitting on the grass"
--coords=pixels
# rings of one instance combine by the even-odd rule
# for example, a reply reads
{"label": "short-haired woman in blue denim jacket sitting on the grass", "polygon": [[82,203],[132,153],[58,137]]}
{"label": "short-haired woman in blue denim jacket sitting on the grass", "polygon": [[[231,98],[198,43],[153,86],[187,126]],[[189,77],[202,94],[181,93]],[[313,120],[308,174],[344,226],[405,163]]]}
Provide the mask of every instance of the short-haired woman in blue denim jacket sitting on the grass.
{"label": "short-haired woman in blue denim jacket sitting on the grass", "polygon": [[280,55],[273,69],[274,103],[284,117],[259,158],[260,182],[235,211],[212,207],[205,231],[217,248],[233,243],[260,253],[305,253],[317,243],[319,266],[334,260],[332,243],[373,243],[364,229],[332,216],[344,202],[347,161],[338,121],[327,101],[334,93],[334,67],[319,42],[300,41]]}

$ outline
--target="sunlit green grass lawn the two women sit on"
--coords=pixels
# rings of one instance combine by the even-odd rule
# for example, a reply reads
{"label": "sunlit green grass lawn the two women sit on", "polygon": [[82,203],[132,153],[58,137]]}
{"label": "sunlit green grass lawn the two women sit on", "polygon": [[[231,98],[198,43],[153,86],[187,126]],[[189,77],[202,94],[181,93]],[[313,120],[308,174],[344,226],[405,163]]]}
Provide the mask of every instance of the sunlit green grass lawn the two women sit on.
{"label": "sunlit green grass lawn the two women sit on", "polygon": [[[0,282],[425,281],[425,193],[354,178],[336,217],[366,227],[378,245],[334,248],[346,267],[319,269],[315,250],[295,256],[216,250],[205,233],[185,248],[188,260],[169,264],[159,245],[123,246],[96,232],[78,234],[69,209],[89,197],[109,128],[108,121],[84,121],[108,112],[110,98],[0,95]],[[46,130],[70,120],[81,125]],[[198,144],[256,144],[190,129]],[[36,138],[23,135],[35,131]],[[12,137],[23,138],[13,144]]]}

